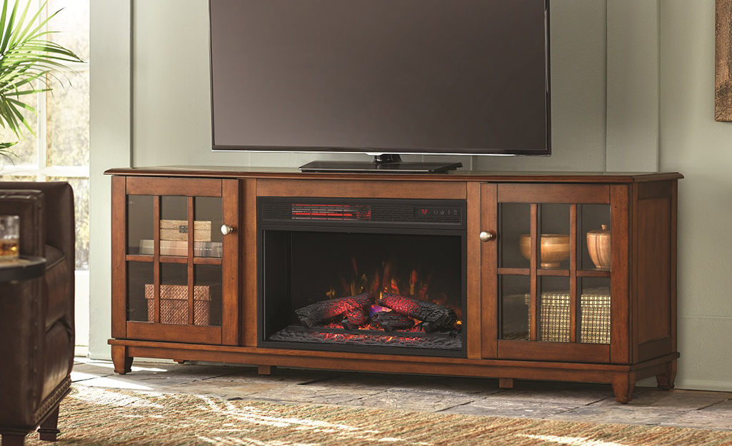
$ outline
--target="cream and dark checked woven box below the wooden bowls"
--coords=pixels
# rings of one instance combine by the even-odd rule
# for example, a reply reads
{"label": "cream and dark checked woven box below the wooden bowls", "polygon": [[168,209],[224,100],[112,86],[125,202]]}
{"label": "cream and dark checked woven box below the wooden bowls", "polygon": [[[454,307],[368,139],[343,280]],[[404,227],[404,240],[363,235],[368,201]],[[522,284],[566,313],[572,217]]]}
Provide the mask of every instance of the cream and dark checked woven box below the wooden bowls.
{"label": "cream and dark checked woven box below the wooden bowls", "polygon": [[[527,305],[530,302],[531,297],[526,295]],[[610,344],[610,295],[592,292],[581,295],[580,314],[579,341]],[[539,339],[569,342],[569,294],[542,293],[539,300]]]}

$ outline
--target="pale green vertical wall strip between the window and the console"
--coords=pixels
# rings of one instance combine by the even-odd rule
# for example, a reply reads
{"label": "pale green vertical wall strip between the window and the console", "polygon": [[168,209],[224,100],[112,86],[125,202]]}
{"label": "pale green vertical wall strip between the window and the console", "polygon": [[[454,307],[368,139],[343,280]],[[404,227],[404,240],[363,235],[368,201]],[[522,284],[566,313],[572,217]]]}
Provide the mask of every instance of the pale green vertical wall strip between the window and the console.
{"label": "pale green vertical wall strip between the window and the console", "polygon": [[89,356],[110,358],[111,181],[104,171],[132,164],[132,0],[91,1],[89,178]]}

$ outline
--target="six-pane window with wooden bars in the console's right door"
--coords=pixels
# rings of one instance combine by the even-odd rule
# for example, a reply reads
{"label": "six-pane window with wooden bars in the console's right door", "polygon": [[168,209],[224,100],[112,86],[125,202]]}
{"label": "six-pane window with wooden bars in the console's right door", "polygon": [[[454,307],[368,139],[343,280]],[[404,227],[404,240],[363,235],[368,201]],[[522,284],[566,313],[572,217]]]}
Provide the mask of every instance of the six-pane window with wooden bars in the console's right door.
{"label": "six-pane window with wooden bars in the console's right door", "polygon": [[500,203],[498,223],[501,339],[610,344],[610,265],[592,238],[610,205]]}

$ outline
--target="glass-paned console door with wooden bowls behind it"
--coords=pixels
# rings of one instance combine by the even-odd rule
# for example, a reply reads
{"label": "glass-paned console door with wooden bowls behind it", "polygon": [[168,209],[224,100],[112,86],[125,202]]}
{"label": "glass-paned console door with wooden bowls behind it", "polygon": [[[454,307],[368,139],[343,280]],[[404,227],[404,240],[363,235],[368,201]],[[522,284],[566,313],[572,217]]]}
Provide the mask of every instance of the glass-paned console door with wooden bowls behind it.
{"label": "glass-paned console door with wooden bowls behind it", "polygon": [[495,215],[488,218],[497,235],[496,356],[566,359],[571,350],[584,360],[607,362],[609,194],[597,194],[605,203],[564,203],[576,195],[573,188],[588,186],[562,185],[554,192],[531,186],[526,193],[514,186],[516,193],[501,194],[499,185]]}

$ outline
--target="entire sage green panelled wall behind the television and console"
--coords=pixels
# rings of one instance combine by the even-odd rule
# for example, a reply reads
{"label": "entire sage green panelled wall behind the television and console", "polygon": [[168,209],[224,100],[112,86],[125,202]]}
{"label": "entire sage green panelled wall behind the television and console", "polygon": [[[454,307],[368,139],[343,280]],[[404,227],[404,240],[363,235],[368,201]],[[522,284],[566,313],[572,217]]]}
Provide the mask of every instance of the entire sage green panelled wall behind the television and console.
{"label": "entire sage green panelled wall behind the television and console", "polygon": [[[713,121],[714,1],[552,0],[551,7],[553,155],[460,161],[481,170],[687,175],[679,187],[677,385],[732,390],[732,352],[720,342],[732,335],[732,279],[725,273],[732,235],[724,235],[732,157],[723,152],[732,124]],[[90,349],[107,358],[104,169],[295,167],[354,156],[210,151],[206,0],[95,0],[91,21]]]}

